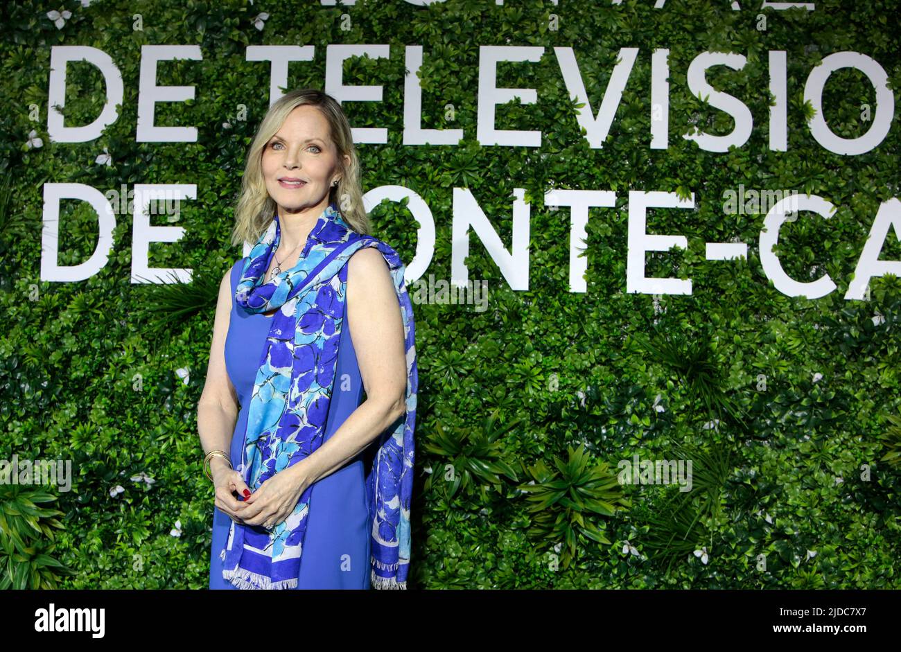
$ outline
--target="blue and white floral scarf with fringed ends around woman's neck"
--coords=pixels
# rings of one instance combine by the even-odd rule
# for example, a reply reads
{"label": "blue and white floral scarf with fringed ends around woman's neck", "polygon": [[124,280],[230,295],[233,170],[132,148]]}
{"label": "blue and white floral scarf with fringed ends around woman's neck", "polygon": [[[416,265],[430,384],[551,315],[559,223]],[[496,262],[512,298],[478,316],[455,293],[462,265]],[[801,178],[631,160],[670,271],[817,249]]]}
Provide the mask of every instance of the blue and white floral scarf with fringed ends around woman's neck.
{"label": "blue and white floral scarf with fringed ends around woman's neck", "polygon": [[[334,204],[310,231],[296,266],[266,282],[279,239],[277,214],[250,250],[234,296],[247,312],[280,308],[271,319],[254,380],[241,466],[236,470],[256,491],[323,443],[344,321],[345,263],[358,249],[376,247],[387,260],[404,321],[407,385],[405,419],[393,432],[389,428],[379,435],[366,478],[372,519],[370,577],[374,588],[405,589],[418,385],[405,267],[387,244],[350,230]],[[221,556],[226,580],[242,589],[297,587],[312,489],[306,487],[294,512],[270,530],[232,521]]]}

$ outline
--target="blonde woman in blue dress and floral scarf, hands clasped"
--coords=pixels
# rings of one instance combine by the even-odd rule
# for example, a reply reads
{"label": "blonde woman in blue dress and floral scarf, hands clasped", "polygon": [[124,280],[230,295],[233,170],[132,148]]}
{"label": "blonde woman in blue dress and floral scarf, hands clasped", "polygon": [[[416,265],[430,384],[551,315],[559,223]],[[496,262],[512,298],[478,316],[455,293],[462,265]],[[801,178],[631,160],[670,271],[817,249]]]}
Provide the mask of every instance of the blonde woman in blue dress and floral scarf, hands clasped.
{"label": "blonde woman in blue dress and floral scarf, hands clasped", "polygon": [[341,105],[284,95],[250,143],[232,244],[256,244],[223,276],[197,403],[210,588],[406,588],[413,309],[368,231]]}

